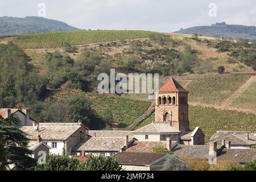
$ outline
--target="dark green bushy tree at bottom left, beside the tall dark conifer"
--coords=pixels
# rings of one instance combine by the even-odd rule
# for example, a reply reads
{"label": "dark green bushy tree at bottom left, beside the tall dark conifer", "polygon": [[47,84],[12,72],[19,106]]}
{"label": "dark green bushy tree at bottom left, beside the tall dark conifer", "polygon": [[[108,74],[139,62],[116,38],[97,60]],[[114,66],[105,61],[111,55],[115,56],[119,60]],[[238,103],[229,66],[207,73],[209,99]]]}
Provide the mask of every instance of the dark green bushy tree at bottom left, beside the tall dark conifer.
{"label": "dark green bushy tree at bottom left, beside the tall dark conifer", "polygon": [[47,154],[46,164],[38,164],[36,171],[76,171],[79,160],[66,155]]}

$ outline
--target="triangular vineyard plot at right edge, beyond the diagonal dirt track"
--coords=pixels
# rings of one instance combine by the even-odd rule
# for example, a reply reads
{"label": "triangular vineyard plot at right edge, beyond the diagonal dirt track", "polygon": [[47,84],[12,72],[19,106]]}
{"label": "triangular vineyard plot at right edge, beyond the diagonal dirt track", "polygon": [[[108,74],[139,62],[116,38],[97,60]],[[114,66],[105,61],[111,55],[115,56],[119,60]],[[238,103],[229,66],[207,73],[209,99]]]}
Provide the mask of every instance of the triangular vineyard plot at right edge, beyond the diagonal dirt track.
{"label": "triangular vineyard plot at right edge, beyond the diagonal dirt track", "polygon": [[238,108],[253,109],[256,111],[256,82],[253,82],[248,89],[243,91],[231,105]]}

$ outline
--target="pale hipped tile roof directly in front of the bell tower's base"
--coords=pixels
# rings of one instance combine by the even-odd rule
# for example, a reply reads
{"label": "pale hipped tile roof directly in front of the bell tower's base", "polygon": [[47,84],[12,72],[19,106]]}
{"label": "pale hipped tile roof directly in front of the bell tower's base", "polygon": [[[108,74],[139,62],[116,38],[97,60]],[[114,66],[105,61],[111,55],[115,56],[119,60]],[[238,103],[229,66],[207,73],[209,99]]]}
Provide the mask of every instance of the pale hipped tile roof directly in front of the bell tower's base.
{"label": "pale hipped tile roof directly in front of the bell tower's base", "polygon": [[179,133],[175,127],[168,125],[166,122],[152,122],[131,133]]}

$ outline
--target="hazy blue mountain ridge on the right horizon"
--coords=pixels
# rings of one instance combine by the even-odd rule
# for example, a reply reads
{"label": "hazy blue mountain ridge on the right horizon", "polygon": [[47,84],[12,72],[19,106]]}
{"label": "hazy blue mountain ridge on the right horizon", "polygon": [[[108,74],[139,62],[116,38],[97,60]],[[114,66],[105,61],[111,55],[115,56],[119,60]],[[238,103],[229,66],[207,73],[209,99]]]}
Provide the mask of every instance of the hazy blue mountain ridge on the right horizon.
{"label": "hazy blue mountain ridge on the right horizon", "polygon": [[212,24],[212,26],[196,26],[176,31],[179,34],[200,34],[212,37],[224,37],[231,39],[256,39],[255,26],[242,26],[238,24],[226,24],[225,22]]}

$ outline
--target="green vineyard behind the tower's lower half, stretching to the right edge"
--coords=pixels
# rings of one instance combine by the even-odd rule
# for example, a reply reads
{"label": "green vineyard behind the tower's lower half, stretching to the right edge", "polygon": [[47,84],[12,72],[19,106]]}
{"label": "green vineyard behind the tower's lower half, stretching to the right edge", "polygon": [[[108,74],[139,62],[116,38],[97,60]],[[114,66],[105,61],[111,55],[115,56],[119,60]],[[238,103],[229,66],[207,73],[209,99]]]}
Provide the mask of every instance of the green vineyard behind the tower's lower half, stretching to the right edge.
{"label": "green vineyard behind the tower's lower half, stretching to the right edge", "polygon": [[[136,129],[155,120],[155,114],[143,121]],[[205,134],[205,142],[218,130],[256,131],[256,115],[231,110],[218,110],[210,107],[189,106],[191,129],[200,126]]]}

